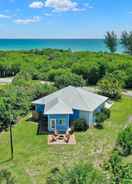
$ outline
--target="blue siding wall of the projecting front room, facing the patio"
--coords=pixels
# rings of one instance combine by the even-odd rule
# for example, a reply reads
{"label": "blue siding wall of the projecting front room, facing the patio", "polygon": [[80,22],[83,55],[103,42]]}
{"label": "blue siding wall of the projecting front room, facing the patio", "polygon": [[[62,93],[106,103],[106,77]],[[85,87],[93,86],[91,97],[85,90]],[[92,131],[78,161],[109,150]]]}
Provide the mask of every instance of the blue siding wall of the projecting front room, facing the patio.
{"label": "blue siding wall of the projecting front room, facing the patio", "polygon": [[[56,120],[56,130],[65,132],[69,128],[69,115],[48,115],[48,130],[54,131],[50,127],[50,120],[55,119]],[[64,120],[64,124],[62,125],[60,123],[60,120]]]}

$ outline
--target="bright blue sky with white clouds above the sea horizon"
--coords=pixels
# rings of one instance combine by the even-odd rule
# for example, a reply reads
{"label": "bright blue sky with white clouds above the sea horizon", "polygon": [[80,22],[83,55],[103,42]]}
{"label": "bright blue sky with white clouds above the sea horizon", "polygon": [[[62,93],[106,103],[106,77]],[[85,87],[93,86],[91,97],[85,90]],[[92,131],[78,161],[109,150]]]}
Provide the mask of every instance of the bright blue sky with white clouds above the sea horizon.
{"label": "bright blue sky with white clouds above the sea horizon", "polygon": [[132,30],[132,0],[0,0],[0,38],[103,38]]}

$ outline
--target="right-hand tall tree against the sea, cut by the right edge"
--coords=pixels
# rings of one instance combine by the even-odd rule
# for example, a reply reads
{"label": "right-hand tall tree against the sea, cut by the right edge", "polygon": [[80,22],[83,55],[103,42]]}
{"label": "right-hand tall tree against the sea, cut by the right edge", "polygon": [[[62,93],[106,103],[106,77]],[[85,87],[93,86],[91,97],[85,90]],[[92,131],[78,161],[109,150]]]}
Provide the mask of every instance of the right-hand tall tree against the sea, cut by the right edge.
{"label": "right-hand tall tree against the sea, cut by the right edge", "polygon": [[121,35],[121,44],[125,48],[125,52],[132,55],[132,32],[124,31]]}

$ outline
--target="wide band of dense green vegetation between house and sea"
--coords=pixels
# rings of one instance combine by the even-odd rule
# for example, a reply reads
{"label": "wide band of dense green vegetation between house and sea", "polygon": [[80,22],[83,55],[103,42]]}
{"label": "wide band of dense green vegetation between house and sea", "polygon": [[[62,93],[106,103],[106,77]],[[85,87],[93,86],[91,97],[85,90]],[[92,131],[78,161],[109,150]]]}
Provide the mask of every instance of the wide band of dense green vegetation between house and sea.
{"label": "wide band of dense green vegetation between house and sea", "polygon": [[132,87],[132,58],[128,55],[51,49],[0,52],[0,75],[14,76],[19,71],[27,71],[33,80],[56,82],[58,87],[72,81],[78,85],[79,80],[80,85],[96,85],[108,74],[117,76],[124,87]]}

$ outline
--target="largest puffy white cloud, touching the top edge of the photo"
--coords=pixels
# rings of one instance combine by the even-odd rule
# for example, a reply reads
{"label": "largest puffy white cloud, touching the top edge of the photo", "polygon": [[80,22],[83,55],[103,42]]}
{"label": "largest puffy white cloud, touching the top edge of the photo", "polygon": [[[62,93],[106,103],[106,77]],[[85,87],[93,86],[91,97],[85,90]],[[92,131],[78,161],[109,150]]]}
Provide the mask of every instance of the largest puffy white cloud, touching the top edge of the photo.
{"label": "largest puffy white cloud, touching the top edge of the photo", "polygon": [[53,11],[79,11],[78,3],[72,0],[46,0],[45,7],[53,8]]}

